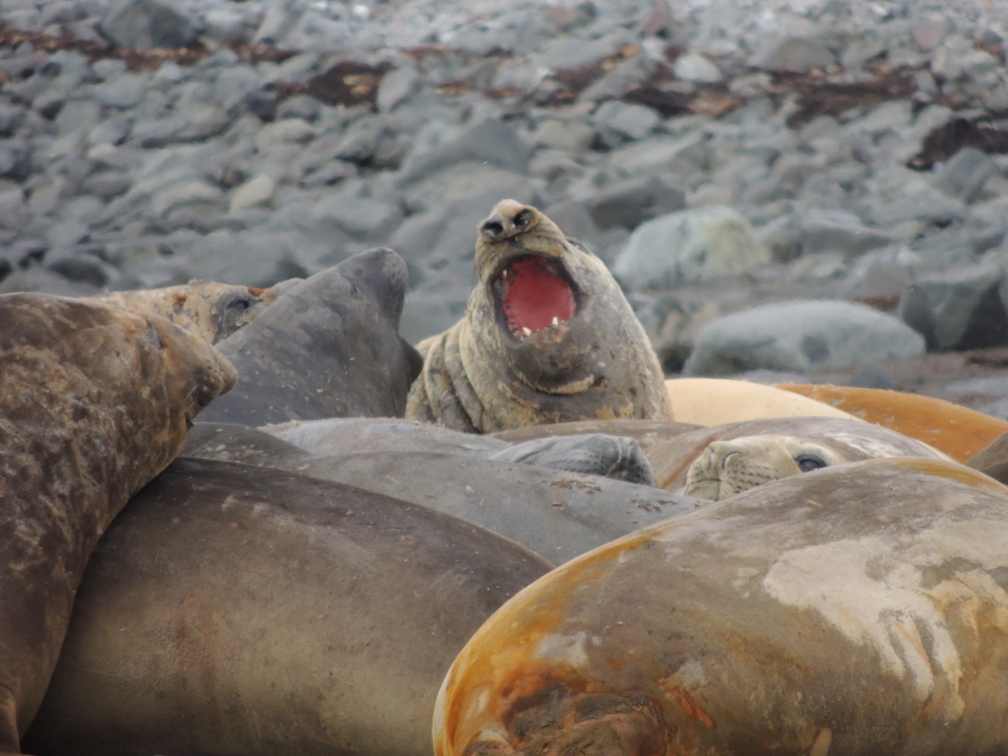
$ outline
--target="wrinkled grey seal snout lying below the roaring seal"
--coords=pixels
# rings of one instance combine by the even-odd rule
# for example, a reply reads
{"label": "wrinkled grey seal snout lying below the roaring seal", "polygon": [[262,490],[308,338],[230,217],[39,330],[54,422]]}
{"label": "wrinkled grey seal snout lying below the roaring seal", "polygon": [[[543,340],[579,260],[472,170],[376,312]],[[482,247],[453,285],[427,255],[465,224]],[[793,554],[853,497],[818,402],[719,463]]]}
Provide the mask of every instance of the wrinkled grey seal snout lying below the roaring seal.
{"label": "wrinkled grey seal snout lying below the roaring seal", "polygon": [[490,459],[654,486],[651,464],[640,445],[625,435],[583,433],[536,438],[495,452]]}

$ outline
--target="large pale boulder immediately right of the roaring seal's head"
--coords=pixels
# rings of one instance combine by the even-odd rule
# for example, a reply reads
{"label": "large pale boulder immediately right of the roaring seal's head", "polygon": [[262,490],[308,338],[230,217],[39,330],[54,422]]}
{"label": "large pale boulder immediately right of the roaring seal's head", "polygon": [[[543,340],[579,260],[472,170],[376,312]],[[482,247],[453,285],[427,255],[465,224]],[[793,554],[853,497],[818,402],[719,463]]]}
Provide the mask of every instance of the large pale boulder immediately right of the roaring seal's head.
{"label": "large pale boulder immediately right of the roaring seal's head", "polygon": [[630,237],[613,272],[634,288],[668,288],[743,275],[772,261],[749,222],[712,206],[655,218]]}

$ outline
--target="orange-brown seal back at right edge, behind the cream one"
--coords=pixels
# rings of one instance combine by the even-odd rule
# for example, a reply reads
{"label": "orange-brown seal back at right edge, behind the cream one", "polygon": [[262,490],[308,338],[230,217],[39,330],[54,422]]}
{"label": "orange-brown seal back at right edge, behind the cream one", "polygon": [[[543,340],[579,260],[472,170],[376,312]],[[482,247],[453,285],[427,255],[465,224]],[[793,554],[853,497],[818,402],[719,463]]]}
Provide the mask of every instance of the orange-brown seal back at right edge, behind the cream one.
{"label": "orange-brown seal back at right edge, behind the cream one", "polygon": [[1002,419],[933,396],[800,383],[781,383],[778,388],[922,440],[956,462],[968,462],[985,446],[1008,432],[1008,422]]}

